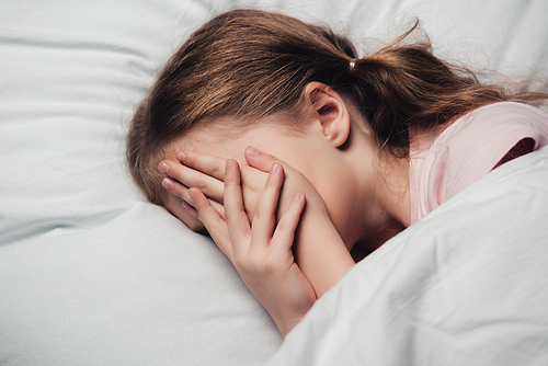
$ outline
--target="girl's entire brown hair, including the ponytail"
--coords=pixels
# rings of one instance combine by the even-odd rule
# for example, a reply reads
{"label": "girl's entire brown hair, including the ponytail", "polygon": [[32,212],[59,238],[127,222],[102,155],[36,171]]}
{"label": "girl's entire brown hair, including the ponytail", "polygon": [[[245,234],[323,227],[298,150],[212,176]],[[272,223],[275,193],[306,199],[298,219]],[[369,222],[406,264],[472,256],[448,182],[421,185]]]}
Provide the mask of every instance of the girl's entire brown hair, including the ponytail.
{"label": "girl's entire brown hair, including the ponytail", "polygon": [[412,124],[431,128],[489,103],[548,96],[482,84],[435,57],[429,42],[403,44],[416,25],[356,59],[347,38],[290,16],[235,10],[212,19],[171,57],[135,112],[126,150],[135,182],[163,205],[157,165],[170,144],[218,117],[237,117],[239,128],[275,113],[299,116],[311,81],[350,99],[379,146],[399,157],[408,155]]}

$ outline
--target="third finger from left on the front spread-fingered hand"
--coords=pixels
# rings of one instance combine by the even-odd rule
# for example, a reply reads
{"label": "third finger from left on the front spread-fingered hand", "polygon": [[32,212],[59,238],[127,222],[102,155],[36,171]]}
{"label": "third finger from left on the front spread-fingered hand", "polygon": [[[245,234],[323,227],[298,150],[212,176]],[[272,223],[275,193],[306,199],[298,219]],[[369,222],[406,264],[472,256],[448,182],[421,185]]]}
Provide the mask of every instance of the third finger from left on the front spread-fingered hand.
{"label": "third finger from left on the front spread-fingered hand", "polygon": [[279,188],[284,182],[284,169],[273,164],[264,190],[259,198],[255,215],[251,226],[251,242],[256,249],[269,245],[276,225],[276,208],[279,198]]}

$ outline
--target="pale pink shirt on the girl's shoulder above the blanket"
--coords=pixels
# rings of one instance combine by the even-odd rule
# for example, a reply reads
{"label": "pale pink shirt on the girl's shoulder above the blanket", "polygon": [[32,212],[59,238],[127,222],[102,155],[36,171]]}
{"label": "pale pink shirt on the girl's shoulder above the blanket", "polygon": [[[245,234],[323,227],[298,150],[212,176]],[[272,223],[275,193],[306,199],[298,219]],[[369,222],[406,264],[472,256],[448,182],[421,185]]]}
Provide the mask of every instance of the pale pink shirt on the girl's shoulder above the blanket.
{"label": "pale pink shirt on the girl's shoulder above the blanket", "polygon": [[[439,131],[438,131],[439,133]],[[455,121],[436,137],[410,131],[411,224],[489,173],[520,140],[548,145],[548,114],[527,104],[493,103]]]}

